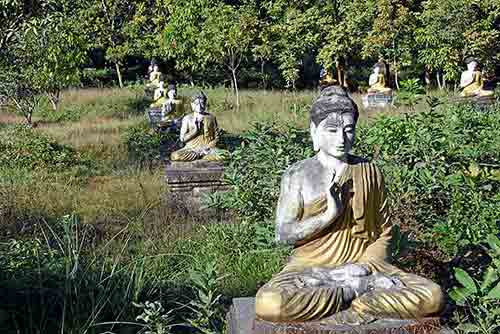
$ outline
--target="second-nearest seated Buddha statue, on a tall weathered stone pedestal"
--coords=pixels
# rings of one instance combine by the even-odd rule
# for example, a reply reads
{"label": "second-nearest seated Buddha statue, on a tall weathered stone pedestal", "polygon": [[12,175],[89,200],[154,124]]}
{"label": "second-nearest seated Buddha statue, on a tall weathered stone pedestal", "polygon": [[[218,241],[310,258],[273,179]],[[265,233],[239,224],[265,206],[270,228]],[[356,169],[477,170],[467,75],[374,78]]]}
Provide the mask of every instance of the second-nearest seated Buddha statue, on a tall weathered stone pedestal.
{"label": "second-nearest seated Buddha statue, on a tall weathered stone pedestal", "polygon": [[207,96],[203,92],[192,97],[191,109],[193,112],[184,116],[181,124],[180,140],[185,145],[172,152],[170,160],[223,160],[225,151],[217,148],[217,120],[207,112]]}

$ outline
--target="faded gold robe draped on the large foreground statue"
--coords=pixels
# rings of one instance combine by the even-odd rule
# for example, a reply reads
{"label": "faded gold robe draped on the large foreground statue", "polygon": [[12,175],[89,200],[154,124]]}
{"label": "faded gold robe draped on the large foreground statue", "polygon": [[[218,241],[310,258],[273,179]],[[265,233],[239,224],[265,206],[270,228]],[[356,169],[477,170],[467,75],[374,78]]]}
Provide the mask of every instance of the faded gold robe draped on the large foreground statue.
{"label": "faded gold robe draped on the large foreground statue", "polygon": [[[357,317],[354,320],[362,322],[375,318],[423,318],[442,309],[439,285],[388,263],[391,225],[380,171],[367,162],[351,164],[340,183],[350,178],[353,196],[344,213],[316,238],[296,246],[281,273],[258,291],[259,318],[273,322],[335,319],[339,311],[349,309]],[[324,197],[305,203],[298,222],[325,210]],[[405,287],[367,292],[349,303],[343,300],[342,287],[297,286],[295,278],[307,268],[333,268],[346,263],[366,264],[372,272],[396,276]],[[342,323],[345,319],[336,321]]]}

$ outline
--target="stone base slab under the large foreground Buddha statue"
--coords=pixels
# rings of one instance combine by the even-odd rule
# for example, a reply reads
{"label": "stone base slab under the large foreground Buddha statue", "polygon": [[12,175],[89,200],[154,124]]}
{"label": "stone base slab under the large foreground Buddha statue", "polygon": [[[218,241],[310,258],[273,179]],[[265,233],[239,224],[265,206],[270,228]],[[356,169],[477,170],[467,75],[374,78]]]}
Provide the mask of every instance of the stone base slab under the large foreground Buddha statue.
{"label": "stone base slab under the large foreground Buddha statue", "polygon": [[255,318],[255,298],[236,298],[227,314],[227,334],[441,334],[439,318],[381,319],[362,325],[321,325],[314,322],[272,323]]}

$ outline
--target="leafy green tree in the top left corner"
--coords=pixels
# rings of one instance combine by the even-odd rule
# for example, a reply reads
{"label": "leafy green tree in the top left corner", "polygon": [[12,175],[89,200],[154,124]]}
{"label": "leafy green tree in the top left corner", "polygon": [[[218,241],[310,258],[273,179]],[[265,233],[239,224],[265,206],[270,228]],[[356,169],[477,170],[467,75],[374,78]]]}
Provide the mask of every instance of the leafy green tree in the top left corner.
{"label": "leafy green tree in the top left corner", "polygon": [[30,124],[43,95],[55,109],[60,91],[79,82],[86,56],[75,4],[50,0],[40,8],[13,30],[0,62],[0,95]]}

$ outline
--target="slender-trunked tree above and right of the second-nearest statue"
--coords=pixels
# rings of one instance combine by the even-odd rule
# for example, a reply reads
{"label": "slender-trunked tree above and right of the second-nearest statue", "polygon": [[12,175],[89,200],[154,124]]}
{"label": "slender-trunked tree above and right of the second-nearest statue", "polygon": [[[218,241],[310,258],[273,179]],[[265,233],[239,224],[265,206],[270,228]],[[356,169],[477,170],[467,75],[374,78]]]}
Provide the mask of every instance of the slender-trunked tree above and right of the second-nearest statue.
{"label": "slender-trunked tree above and right of the second-nearest statue", "polygon": [[257,34],[258,20],[251,5],[240,7],[219,4],[211,10],[201,34],[202,48],[210,50],[215,60],[222,62],[231,73],[240,106],[237,71],[247,57]]}

